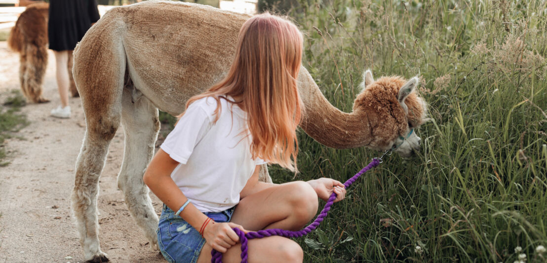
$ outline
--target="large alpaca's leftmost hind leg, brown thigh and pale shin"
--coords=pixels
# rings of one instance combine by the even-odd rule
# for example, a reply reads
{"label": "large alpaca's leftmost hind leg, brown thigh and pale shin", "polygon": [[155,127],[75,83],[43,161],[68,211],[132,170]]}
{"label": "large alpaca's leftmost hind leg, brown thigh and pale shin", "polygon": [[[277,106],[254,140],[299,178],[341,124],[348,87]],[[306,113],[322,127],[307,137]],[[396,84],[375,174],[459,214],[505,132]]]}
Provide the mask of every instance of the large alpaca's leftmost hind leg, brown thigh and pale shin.
{"label": "large alpaca's leftmost hind leg, brown thigh and pale shin", "polygon": [[[82,98],[86,131],[76,162],[72,209],[84,260],[104,262],[108,259],[97,236],[98,180],[108,146],[120,125],[126,57],[122,42],[112,41],[111,36],[97,37],[102,41],[99,44],[85,39],[74,53],[74,81]],[[94,49],[96,45],[102,48]]]}

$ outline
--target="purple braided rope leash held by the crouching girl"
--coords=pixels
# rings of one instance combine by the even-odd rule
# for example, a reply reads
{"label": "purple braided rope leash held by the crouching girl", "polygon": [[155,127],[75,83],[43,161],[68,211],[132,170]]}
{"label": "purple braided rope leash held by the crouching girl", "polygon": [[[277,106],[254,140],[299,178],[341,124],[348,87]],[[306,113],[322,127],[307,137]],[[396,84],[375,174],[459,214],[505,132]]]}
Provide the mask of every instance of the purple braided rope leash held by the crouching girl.
{"label": "purple braided rope leash held by the crouching girl", "polygon": [[[385,153],[384,153],[385,155]],[[383,155],[382,155],[383,157]],[[356,175],[353,175],[352,178],[348,179],[344,186],[349,187],[350,185],[359,178],[362,174],[364,174],[366,171],[376,167],[378,164],[382,163],[382,158],[374,158],[372,162],[370,162],[368,165],[366,165],[365,168],[359,171]],[[325,207],[321,211],[321,213],[317,216],[315,221],[313,221],[310,225],[306,226],[305,228],[302,228],[302,230],[299,231],[289,231],[284,229],[266,229],[266,230],[259,230],[257,232],[248,232],[247,234],[243,231],[241,231],[239,228],[232,228],[236,232],[236,234],[240,237],[241,241],[241,262],[247,263],[247,251],[248,251],[248,239],[253,238],[263,238],[263,237],[270,237],[270,236],[282,236],[282,237],[302,237],[310,233],[312,230],[315,230],[317,226],[319,226],[319,223],[323,221],[325,216],[327,216],[327,213],[330,210],[331,205],[334,203],[334,199],[336,199],[336,193],[332,193],[327,201],[327,204],[325,204]],[[220,253],[217,250],[211,251],[211,262],[213,263],[222,263],[222,253]]]}

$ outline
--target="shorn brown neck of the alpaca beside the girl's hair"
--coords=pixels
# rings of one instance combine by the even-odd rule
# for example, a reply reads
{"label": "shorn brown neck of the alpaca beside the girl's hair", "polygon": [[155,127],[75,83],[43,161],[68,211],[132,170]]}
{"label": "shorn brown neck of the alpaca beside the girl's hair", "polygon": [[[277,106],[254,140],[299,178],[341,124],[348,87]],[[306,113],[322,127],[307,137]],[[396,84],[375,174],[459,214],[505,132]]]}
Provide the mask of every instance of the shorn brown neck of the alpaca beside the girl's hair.
{"label": "shorn brown neck of the alpaca beside the girl's hair", "polygon": [[298,75],[299,94],[306,111],[300,127],[319,143],[332,148],[356,148],[370,144],[371,127],[362,111],[342,112],[325,98],[306,68]]}

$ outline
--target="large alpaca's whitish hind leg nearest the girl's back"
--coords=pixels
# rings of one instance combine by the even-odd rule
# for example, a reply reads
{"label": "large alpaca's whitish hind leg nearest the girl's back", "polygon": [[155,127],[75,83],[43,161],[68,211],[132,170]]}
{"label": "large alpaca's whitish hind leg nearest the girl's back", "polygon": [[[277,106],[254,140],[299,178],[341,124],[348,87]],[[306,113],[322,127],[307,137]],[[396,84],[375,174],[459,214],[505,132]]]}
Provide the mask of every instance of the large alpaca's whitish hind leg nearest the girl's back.
{"label": "large alpaca's whitish hind leg nearest the girl's back", "polygon": [[124,161],[118,175],[118,187],[124,192],[125,203],[137,225],[157,248],[158,215],[152,206],[148,187],[142,176],[154,155],[160,122],[158,108],[145,97],[131,102],[131,90],[124,89],[121,124],[125,132]]}

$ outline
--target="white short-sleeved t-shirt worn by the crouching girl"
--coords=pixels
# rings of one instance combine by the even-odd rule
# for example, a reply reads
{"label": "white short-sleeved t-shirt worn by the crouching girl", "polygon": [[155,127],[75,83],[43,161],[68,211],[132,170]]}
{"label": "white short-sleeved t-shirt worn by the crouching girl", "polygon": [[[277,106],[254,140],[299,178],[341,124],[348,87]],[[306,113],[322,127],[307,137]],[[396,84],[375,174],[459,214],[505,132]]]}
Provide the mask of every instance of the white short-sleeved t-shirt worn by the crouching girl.
{"label": "white short-sleeved t-shirt worn by the crouching girl", "polygon": [[213,123],[216,108],[211,97],[194,101],[160,146],[180,163],[171,178],[202,212],[234,207],[256,165],[265,163],[253,160],[251,134],[242,133],[248,127],[247,113],[220,98],[222,111]]}

